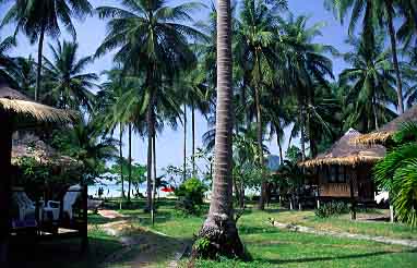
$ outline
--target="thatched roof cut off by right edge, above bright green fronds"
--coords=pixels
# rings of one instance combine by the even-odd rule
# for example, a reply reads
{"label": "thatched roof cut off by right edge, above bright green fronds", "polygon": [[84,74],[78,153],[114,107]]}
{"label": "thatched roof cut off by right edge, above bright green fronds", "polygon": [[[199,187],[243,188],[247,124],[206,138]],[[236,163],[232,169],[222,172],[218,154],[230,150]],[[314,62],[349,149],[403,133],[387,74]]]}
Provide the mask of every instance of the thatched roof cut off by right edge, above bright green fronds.
{"label": "thatched roof cut off by right edge, above bright green fronds", "polygon": [[386,123],[379,131],[374,131],[368,134],[360,135],[352,139],[352,143],[356,144],[385,144],[392,135],[397,132],[404,122],[415,121],[417,122],[417,105],[406,110],[403,114],[395,118],[393,121]]}

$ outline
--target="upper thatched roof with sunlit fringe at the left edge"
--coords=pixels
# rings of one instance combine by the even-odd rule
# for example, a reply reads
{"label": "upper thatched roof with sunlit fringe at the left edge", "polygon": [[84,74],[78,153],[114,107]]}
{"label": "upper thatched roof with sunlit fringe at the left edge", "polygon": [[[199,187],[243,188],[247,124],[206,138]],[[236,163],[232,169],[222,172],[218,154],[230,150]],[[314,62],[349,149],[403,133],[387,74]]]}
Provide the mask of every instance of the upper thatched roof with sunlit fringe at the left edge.
{"label": "upper thatched roof with sunlit fringe at the left edge", "polygon": [[35,102],[5,84],[0,84],[0,109],[43,122],[65,123],[74,119],[73,112]]}

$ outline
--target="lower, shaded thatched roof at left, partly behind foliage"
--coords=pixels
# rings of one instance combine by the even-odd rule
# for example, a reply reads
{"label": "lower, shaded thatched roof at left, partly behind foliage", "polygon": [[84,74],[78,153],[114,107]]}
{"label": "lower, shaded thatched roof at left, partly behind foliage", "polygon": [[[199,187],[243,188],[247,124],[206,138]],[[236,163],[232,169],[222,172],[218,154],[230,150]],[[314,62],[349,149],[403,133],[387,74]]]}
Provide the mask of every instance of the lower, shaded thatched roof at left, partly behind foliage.
{"label": "lower, shaded thatched roof at left, partly behind foliage", "polygon": [[33,158],[39,165],[79,166],[79,162],[68,156],[60,155],[56,149],[32,134],[13,135],[12,165],[20,166],[24,158]]}

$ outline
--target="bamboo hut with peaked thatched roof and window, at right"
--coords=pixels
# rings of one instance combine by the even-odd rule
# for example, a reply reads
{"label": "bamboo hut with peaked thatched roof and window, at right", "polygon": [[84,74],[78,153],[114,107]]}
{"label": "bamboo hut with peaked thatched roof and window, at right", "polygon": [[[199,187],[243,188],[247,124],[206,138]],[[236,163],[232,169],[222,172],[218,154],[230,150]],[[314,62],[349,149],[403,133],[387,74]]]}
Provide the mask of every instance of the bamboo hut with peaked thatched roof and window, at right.
{"label": "bamboo hut with peaked thatched roof and window, at right", "polygon": [[327,151],[300,163],[314,171],[320,200],[373,202],[376,187],[371,168],[384,157],[385,147],[349,142],[358,136],[360,133],[350,129]]}

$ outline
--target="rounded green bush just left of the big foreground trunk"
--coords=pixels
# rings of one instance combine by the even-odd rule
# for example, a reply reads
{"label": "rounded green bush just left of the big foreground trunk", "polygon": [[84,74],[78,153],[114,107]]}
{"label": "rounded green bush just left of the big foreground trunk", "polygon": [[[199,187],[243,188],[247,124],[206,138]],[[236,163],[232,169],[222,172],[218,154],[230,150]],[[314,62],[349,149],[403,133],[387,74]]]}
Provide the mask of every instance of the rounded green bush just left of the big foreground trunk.
{"label": "rounded green bush just left of the big foreground trunk", "polygon": [[207,187],[199,179],[187,180],[175,191],[179,197],[177,207],[183,212],[198,215],[200,206],[203,205],[205,191]]}

